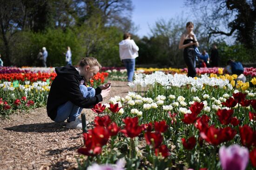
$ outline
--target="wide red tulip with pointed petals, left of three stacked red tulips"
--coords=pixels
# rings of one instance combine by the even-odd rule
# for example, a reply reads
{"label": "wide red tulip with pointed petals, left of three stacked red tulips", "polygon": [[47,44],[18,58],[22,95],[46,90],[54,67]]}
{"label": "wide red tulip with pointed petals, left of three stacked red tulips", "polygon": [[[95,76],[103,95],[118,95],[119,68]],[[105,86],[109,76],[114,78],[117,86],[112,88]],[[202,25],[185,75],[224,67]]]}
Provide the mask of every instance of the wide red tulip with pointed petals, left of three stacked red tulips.
{"label": "wide red tulip with pointed petals, left of three stacked red tulips", "polygon": [[125,123],[125,129],[122,129],[121,132],[125,134],[127,137],[137,137],[141,134],[142,127],[138,125],[138,117],[135,118],[125,118],[122,119]]}

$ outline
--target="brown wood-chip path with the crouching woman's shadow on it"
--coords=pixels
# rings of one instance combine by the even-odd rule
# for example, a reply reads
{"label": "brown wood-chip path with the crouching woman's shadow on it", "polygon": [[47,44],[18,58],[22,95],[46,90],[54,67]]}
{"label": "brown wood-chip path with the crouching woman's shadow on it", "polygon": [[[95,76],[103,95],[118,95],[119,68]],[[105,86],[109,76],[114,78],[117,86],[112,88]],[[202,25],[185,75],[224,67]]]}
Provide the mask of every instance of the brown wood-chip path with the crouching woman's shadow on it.
{"label": "brown wood-chip path with the crouching woman's shadow on it", "polygon": [[[124,97],[126,82],[112,81],[110,97]],[[87,120],[95,113],[84,109]],[[68,130],[65,123],[54,123],[47,117],[46,108],[13,115],[0,122],[0,170],[64,170],[77,167],[76,150],[83,143],[81,130]]]}

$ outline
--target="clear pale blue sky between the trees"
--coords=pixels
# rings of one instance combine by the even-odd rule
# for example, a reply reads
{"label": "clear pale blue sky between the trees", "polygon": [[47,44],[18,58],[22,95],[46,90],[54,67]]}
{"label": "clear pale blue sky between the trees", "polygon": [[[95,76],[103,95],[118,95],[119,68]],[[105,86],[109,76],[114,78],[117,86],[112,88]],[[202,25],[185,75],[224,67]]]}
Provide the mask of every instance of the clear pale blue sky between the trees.
{"label": "clear pale blue sky between the trees", "polygon": [[138,26],[135,33],[139,37],[149,36],[149,26],[154,26],[159,19],[169,20],[183,15],[189,19],[190,9],[184,7],[184,0],[132,0],[132,21]]}

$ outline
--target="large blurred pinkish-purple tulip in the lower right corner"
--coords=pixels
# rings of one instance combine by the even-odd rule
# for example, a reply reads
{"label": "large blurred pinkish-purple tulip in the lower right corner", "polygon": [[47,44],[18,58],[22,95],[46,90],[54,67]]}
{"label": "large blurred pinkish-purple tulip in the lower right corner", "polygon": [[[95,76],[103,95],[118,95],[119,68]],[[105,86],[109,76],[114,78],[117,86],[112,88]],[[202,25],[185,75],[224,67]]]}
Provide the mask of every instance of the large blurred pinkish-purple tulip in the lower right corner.
{"label": "large blurred pinkish-purple tulip in the lower right corner", "polygon": [[223,170],[245,170],[249,161],[249,150],[239,145],[222,146],[219,157]]}

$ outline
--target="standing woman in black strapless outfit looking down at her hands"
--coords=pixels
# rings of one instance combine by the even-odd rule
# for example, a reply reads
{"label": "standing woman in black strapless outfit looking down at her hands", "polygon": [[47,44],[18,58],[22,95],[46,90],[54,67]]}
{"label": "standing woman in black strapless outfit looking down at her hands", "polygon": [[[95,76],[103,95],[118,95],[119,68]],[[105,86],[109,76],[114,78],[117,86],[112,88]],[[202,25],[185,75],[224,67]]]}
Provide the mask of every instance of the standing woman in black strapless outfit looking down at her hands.
{"label": "standing woman in black strapless outfit looking down at her hands", "polygon": [[179,49],[184,49],[183,58],[186,65],[188,66],[188,76],[195,77],[195,50],[193,46],[199,46],[199,43],[197,42],[196,36],[193,33],[194,24],[192,22],[188,22],[186,25],[186,29],[186,33],[182,34]]}

